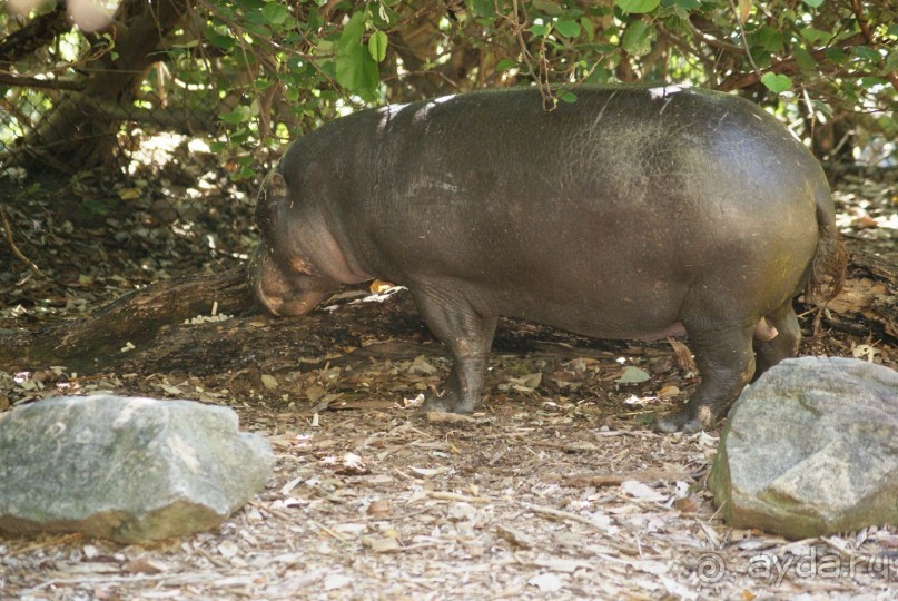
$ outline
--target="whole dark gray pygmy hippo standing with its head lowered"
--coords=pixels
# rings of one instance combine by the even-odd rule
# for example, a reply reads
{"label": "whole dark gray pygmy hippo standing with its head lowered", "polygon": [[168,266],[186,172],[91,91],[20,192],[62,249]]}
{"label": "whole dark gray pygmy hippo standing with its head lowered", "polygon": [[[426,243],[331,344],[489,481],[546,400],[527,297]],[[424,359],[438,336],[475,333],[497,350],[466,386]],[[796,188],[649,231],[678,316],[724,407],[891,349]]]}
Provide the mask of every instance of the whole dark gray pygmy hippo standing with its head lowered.
{"label": "whole dark gray pygmy hippo standing with its head lowered", "polygon": [[675,87],[578,90],[553,112],[532,89],[357,112],[287,150],[256,219],[249,282],[276,315],[374,277],[408,287],[454,359],[430,411],[480,404],[504,315],[688,334],[702,381],[657,427],[690,432],[797,353],[791,299],[835,235],[826,178],[782,126]]}

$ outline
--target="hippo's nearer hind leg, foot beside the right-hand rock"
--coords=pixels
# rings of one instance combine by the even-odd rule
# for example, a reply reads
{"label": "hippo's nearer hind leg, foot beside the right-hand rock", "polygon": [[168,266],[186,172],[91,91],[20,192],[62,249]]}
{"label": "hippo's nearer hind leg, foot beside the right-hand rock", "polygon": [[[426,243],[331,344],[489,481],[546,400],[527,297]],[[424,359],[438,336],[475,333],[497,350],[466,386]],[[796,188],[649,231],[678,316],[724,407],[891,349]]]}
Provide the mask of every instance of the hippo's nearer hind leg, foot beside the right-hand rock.
{"label": "hippo's nearer hind leg, foot beside the right-hand rock", "polygon": [[662,432],[698,432],[712,426],[754,374],[753,326],[683,325],[701,383],[685,407],[655,420],[655,427]]}

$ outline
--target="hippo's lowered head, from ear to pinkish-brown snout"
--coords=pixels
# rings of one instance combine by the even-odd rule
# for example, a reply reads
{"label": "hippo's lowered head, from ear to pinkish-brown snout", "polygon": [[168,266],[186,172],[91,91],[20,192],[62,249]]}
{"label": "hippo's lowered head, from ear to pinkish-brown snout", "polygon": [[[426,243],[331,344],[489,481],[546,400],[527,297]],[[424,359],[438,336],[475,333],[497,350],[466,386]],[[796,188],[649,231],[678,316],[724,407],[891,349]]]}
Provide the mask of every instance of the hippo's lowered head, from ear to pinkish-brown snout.
{"label": "hippo's lowered head, from ear to pinkish-brown snout", "polygon": [[[247,265],[249,288],[274,315],[305,315],[339,284],[317,273],[303,253],[308,228],[294,206],[284,176],[273,170],[256,204],[261,242]],[[312,236],[314,237],[314,236]]]}

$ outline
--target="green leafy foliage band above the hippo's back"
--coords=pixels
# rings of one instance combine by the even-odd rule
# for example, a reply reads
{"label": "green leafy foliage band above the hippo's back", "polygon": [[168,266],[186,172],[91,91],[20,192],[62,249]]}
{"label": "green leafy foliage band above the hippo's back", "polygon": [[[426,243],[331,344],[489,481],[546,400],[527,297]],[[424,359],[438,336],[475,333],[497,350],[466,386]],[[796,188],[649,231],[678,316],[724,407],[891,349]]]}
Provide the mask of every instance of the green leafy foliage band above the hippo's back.
{"label": "green leafy foliage band above the hippo's back", "polygon": [[[898,134],[898,26],[888,2],[121,0],[92,32],[48,18],[91,1],[0,16],[0,151],[17,138],[20,147],[65,146],[71,131],[58,140],[36,132],[80,101],[75,112],[116,124],[95,138],[114,139],[120,124],[209,135],[240,165],[235,177],[248,177],[257,162],[249,149],[279,148],[365,105],[535,85],[551,110],[575,102],[580,86],[604,82],[739,90],[813,137],[821,157],[851,158],[855,146],[881,147]],[[165,10],[177,18],[146,18]],[[147,36],[141,27],[158,37],[142,62],[132,48]],[[102,79],[125,68],[138,76],[101,98],[110,89]]]}

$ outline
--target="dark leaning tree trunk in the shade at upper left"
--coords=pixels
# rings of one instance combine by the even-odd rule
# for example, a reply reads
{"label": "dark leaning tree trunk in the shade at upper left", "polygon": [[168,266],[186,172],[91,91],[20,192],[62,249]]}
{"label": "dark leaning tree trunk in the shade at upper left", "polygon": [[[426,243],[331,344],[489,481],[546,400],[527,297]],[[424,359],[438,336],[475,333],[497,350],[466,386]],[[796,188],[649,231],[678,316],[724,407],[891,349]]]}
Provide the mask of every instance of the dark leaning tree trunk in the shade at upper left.
{"label": "dark leaning tree trunk in the shade at upper left", "polygon": [[186,13],[188,0],[125,0],[109,32],[112,52],[87,62],[90,73],[83,91],[62,95],[53,110],[17,140],[11,165],[29,173],[72,174],[115,158],[120,121],[110,119],[103,105],[130,106],[149,67],[154,51]]}

